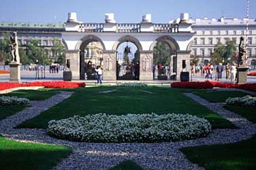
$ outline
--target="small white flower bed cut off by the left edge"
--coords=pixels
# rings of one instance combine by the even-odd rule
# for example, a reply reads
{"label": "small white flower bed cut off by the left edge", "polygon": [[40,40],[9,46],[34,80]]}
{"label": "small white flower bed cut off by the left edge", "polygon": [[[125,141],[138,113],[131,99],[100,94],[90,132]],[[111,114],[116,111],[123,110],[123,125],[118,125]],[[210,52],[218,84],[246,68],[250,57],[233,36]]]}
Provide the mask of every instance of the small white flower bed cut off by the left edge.
{"label": "small white flower bed cut off by the left edge", "polygon": [[29,99],[27,98],[18,98],[18,97],[0,97],[0,105],[27,105]]}

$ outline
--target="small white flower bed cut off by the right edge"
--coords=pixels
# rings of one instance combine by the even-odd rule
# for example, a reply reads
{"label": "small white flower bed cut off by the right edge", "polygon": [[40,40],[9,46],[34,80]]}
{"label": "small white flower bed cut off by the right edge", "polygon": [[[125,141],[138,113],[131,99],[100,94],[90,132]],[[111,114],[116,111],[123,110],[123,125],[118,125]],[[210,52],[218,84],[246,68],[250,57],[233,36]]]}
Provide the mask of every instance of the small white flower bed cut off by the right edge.
{"label": "small white flower bed cut off by the right edge", "polygon": [[234,98],[229,97],[226,103],[229,105],[256,105],[256,97],[251,97],[250,95]]}

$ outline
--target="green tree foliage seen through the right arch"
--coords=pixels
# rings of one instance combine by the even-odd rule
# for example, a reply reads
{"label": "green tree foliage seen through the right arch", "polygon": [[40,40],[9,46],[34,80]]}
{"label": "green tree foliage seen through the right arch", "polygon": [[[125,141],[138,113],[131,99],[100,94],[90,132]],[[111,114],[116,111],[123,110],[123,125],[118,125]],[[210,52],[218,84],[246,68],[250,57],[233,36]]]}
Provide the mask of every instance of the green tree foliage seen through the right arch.
{"label": "green tree foliage seen through the right arch", "polygon": [[153,50],[153,63],[161,63],[162,65],[170,65],[170,48],[167,44],[158,42]]}

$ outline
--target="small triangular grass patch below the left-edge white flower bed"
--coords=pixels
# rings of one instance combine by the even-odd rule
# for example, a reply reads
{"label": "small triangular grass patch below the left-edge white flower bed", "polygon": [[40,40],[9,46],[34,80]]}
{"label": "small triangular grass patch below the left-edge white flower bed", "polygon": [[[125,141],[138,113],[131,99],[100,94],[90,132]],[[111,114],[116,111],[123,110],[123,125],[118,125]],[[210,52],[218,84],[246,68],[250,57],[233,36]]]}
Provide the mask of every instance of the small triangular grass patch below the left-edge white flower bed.
{"label": "small triangular grass patch below the left-edge white flower bed", "polygon": [[27,105],[14,105],[14,106],[0,106],[0,120],[7,118],[8,116],[12,116],[17,112],[20,112],[22,109],[28,107]]}

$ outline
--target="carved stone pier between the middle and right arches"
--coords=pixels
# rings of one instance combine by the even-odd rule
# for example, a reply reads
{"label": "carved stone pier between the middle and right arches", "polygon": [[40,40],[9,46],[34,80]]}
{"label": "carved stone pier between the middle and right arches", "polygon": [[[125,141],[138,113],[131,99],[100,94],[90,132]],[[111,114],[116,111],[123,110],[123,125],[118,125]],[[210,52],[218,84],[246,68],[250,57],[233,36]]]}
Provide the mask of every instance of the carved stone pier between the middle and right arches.
{"label": "carved stone pier between the middle and right arches", "polygon": [[140,80],[153,80],[153,51],[140,51]]}

